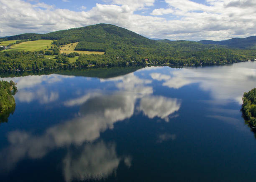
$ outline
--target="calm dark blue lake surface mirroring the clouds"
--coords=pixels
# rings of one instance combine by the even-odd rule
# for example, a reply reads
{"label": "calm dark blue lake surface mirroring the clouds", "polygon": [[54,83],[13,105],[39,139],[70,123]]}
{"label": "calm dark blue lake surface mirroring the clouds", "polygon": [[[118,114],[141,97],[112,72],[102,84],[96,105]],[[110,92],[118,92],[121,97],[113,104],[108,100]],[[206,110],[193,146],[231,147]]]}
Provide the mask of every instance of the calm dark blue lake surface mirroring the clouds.
{"label": "calm dark blue lake surface mirroring the clouds", "polygon": [[240,109],[256,62],[108,75],[4,78],[18,92],[0,124],[0,180],[255,182]]}

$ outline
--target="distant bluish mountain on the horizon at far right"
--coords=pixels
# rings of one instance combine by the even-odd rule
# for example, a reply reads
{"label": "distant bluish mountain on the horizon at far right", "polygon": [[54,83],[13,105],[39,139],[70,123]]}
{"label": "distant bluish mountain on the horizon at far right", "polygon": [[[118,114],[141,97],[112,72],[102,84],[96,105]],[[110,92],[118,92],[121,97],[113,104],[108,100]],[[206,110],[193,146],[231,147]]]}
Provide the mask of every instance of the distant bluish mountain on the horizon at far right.
{"label": "distant bluish mountain on the horizon at far right", "polygon": [[213,40],[200,40],[201,44],[209,45],[225,45],[228,47],[239,48],[239,49],[255,49],[256,48],[256,36],[246,38],[233,38],[228,40],[213,41]]}

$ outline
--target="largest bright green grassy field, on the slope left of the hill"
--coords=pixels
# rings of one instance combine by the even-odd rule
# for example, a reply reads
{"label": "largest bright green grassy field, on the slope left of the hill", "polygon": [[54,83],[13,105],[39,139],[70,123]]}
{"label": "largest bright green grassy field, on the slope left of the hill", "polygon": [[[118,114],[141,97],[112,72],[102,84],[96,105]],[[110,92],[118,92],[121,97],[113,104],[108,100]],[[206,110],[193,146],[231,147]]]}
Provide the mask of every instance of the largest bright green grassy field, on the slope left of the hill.
{"label": "largest bright green grassy field, on the slope left of the hill", "polygon": [[26,51],[38,51],[38,50],[45,50],[48,49],[47,46],[51,47],[52,40],[35,40],[35,41],[28,41],[22,42],[20,44],[15,44],[10,47],[10,49],[5,51],[11,50],[26,50]]}

